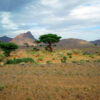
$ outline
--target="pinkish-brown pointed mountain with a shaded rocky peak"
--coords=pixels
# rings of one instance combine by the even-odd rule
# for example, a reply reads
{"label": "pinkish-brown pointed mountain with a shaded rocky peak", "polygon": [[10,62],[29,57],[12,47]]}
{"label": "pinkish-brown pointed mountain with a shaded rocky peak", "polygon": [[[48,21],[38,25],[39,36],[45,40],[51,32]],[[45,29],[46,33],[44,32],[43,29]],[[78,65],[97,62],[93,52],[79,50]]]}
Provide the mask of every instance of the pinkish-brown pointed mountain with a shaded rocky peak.
{"label": "pinkish-brown pointed mountain with a shaded rocky peak", "polygon": [[23,46],[26,43],[30,46],[35,45],[34,41],[36,39],[31,34],[31,32],[23,33],[18,36],[16,36],[11,42],[16,43],[19,46]]}

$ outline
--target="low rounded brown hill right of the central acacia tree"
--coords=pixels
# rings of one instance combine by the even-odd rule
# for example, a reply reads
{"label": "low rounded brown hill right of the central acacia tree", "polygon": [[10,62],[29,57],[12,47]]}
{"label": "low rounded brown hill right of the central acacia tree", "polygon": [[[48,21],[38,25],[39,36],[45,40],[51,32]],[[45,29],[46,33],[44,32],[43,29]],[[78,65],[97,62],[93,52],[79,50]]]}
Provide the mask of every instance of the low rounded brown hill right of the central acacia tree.
{"label": "low rounded brown hill right of the central acacia tree", "polygon": [[81,39],[74,39],[74,38],[63,39],[59,43],[57,43],[57,45],[60,45],[62,47],[71,47],[71,48],[93,46],[93,44],[88,41],[81,40]]}

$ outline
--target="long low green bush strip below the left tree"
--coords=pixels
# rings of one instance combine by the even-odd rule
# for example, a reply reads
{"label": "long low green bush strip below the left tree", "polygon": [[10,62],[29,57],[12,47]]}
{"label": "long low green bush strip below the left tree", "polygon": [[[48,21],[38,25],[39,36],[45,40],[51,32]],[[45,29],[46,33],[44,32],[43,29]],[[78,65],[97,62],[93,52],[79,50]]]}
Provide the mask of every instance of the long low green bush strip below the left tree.
{"label": "long low green bush strip below the left tree", "polygon": [[22,58],[22,59],[16,59],[14,58],[13,60],[7,60],[5,64],[19,64],[21,62],[34,62],[32,58]]}

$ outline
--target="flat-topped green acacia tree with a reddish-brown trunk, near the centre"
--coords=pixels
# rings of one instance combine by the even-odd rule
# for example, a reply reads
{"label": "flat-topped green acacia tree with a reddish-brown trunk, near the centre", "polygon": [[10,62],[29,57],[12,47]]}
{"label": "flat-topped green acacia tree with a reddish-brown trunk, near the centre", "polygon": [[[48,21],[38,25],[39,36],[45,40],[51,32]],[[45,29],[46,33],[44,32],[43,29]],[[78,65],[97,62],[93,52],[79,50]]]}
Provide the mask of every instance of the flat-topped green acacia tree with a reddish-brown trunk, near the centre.
{"label": "flat-topped green acacia tree with a reddish-brown trunk, near the centre", "polygon": [[56,34],[45,34],[45,35],[41,35],[38,42],[43,42],[48,44],[48,48],[50,50],[50,52],[53,51],[52,48],[52,44],[59,42],[61,39],[60,36],[57,36]]}

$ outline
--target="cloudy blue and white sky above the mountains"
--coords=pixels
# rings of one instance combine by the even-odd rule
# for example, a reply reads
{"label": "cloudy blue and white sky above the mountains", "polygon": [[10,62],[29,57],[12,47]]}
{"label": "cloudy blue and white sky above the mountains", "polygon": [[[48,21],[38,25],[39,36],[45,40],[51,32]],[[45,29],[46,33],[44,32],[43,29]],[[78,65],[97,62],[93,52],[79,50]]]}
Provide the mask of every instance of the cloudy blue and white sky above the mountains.
{"label": "cloudy blue and white sky above the mountains", "polygon": [[100,39],[100,0],[0,0],[0,36]]}

